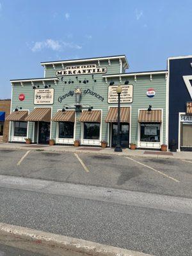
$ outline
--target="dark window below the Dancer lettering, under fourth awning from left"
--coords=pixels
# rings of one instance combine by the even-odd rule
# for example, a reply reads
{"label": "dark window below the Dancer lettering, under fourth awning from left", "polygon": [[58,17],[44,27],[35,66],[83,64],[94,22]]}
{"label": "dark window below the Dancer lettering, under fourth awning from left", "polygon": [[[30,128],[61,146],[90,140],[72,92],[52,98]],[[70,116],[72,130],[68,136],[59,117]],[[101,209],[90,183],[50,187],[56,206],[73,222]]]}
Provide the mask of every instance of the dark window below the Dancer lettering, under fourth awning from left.
{"label": "dark window below the Dancer lettering, under fourth awning from left", "polygon": [[84,122],[84,139],[99,140],[100,123]]}

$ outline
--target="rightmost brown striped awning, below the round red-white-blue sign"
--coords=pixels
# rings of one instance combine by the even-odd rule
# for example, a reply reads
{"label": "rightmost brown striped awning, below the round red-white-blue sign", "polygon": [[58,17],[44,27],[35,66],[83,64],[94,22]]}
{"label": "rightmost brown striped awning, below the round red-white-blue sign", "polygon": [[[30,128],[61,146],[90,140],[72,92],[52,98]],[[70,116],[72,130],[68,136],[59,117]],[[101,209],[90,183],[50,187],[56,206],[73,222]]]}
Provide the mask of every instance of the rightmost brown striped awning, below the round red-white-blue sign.
{"label": "rightmost brown striped awning, below the round red-white-blue sign", "polygon": [[162,111],[161,109],[154,109],[152,111],[140,110],[138,122],[162,122]]}

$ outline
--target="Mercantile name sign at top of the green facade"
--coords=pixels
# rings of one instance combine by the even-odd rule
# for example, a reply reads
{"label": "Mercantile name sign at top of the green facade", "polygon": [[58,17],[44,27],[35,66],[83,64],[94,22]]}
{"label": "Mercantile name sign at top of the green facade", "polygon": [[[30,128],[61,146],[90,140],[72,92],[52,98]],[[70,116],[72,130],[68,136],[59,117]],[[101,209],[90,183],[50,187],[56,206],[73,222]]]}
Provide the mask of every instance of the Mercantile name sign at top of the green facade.
{"label": "Mercantile name sign at top of the green facade", "polygon": [[106,67],[97,67],[96,64],[67,66],[65,69],[56,70],[56,76],[73,76],[88,74],[104,74],[107,72]]}

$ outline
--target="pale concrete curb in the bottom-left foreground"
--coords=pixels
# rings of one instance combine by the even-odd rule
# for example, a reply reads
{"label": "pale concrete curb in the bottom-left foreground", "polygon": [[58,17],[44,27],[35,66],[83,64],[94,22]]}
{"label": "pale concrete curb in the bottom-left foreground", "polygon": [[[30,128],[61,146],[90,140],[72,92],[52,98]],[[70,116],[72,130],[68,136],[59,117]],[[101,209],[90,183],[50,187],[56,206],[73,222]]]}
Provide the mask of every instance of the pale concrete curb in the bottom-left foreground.
{"label": "pale concrete curb in the bottom-left foreground", "polygon": [[0,243],[47,256],[152,256],[6,223],[0,223]]}

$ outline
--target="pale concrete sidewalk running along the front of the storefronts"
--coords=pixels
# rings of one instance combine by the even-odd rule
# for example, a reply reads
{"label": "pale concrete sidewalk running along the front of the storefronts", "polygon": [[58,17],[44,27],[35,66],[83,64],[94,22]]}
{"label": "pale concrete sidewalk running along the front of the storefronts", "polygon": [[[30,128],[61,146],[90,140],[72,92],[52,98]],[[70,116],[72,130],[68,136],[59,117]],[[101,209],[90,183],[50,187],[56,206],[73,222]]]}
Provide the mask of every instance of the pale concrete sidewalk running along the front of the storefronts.
{"label": "pale concrete sidewalk running along the front of the storefronts", "polygon": [[188,159],[192,161],[192,152],[161,152],[154,150],[130,150],[124,148],[123,152],[115,152],[114,148],[96,148],[96,147],[74,147],[74,146],[49,146],[49,145],[26,145],[23,143],[0,143],[0,149],[20,149],[20,150],[45,150],[50,152],[73,152],[73,153],[92,153],[92,154],[110,154],[115,156],[130,157],[161,157],[170,159]]}

